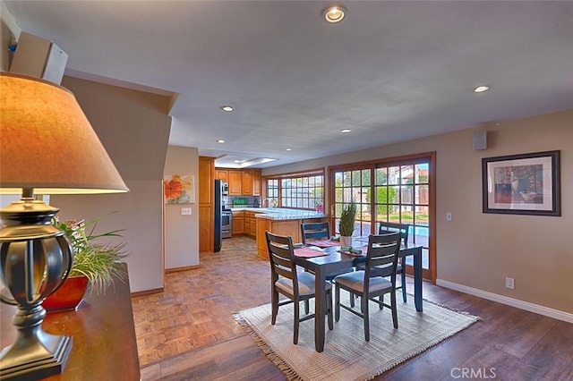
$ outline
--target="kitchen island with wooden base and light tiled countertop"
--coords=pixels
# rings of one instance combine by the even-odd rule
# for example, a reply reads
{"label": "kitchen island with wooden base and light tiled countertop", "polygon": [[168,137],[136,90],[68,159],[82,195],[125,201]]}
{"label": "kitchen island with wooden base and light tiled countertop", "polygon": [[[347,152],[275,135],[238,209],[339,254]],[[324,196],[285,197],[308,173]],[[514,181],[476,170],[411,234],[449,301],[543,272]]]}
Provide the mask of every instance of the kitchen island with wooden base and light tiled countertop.
{"label": "kitchen island with wooden base and light tiled countertop", "polygon": [[303,241],[301,237],[301,224],[328,221],[328,215],[304,209],[286,209],[278,207],[254,208],[257,209],[256,240],[259,257],[269,258],[267,237],[265,232],[279,235],[290,235],[293,243]]}

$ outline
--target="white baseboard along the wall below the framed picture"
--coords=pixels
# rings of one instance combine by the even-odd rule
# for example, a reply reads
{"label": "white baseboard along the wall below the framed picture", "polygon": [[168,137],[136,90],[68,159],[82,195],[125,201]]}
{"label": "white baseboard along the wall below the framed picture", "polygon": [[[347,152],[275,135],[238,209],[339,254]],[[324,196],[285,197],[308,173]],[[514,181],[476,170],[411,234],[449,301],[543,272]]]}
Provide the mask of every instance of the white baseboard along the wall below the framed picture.
{"label": "white baseboard along the wall below the framed picture", "polygon": [[573,314],[560,311],[559,309],[550,309],[548,307],[543,307],[528,301],[519,301],[517,299],[508,298],[507,296],[498,295],[497,293],[478,290],[473,287],[468,287],[463,284],[455,284],[453,282],[444,281],[442,279],[437,279],[436,284],[459,292],[469,293],[470,295],[475,295],[480,298],[487,299],[488,301],[497,301],[498,303],[516,307],[517,309],[525,309],[526,311],[535,312],[536,314],[549,318],[556,318],[568,323],[573,323]]}

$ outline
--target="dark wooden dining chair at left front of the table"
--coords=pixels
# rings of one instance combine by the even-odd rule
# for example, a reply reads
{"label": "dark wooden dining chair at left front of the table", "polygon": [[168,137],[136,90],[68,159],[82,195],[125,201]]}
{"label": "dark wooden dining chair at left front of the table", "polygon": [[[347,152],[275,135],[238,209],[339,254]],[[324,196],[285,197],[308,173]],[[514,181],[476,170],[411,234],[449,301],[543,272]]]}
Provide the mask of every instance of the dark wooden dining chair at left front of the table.
{"label": "dark wooden dining chair at left front of the table", "polygon": [[[311,273],[296,271],[295,248],[290,236],[277,235],[266,232],[267,246],[270,260],[270,290],[272,315],[270,324],[277,322],[278,307],[294,303],[295,321],[293,326],[293,343],[298,343],[299,324],[305,320],[314,318],[314,314],[300,317],[300,302],[308,303],[315,297],[315,278]],[[332,321],[332,284],[327,282],[326,287],[326,311],[329,321],[329,330],[334,328]],[[279,301],[279,294],[286,296],[286,300]],[[307,304],[308,305],[308,304]]]}

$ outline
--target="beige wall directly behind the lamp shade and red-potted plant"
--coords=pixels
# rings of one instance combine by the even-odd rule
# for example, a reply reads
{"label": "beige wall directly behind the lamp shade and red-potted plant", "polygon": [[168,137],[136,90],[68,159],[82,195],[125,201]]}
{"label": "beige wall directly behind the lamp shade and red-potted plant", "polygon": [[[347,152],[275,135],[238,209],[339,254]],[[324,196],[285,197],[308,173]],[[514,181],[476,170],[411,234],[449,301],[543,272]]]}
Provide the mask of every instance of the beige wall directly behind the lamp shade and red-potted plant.
{"label": "beige wall directly behind the lamp shade and red-potted plant", "polygon": [[[116,211],[98,230],[125,229],[132,292],[163,287],[163,168],[171,117],[168,97],[64,76],[130,191],[52,196],[62,219],[93,219]],[[65,155],[65,152],[62,152]]]}

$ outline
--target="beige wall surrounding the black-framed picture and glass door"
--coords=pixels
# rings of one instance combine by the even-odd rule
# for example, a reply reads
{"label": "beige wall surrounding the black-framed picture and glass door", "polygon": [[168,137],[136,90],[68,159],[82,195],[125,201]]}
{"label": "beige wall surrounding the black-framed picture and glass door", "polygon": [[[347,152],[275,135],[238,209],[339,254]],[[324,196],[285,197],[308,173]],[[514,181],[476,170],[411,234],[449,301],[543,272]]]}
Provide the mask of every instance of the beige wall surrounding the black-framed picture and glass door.
{"label": "beige wall surrounding the black-framed picture and glass door", "polygon": [[[488,148],[475,151],[472,136],[480,130],[488,131]],[[438,283],[573,314],[572,142],[573,110],[567,110],[272,167],[263,175],[436,151]],[[483,157],[555,149],[562,216],[482,213]],[[506,277],[515,279],[515,290],[505,288]]]}

